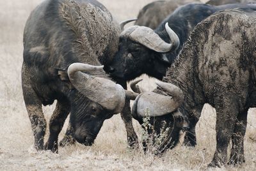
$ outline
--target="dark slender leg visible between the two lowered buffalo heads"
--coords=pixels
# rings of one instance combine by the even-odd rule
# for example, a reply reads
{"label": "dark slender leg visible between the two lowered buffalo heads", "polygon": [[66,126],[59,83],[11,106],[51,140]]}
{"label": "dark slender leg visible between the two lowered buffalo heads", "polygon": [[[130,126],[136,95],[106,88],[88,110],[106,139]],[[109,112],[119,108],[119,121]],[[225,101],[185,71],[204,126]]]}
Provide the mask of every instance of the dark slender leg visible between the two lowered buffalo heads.
{"label": "dark slender leg visible between the two lowered buffalo heads", "polygon": [[130,100],[125,100],[124,109],[121,112],[122,120],[125,124],[125,129],[127,131],[127,142],[130,147],[134,147],[134,145],[138,144],[138,137],[134,131],[132,126],[132,115],[131,115],[131,107]]}

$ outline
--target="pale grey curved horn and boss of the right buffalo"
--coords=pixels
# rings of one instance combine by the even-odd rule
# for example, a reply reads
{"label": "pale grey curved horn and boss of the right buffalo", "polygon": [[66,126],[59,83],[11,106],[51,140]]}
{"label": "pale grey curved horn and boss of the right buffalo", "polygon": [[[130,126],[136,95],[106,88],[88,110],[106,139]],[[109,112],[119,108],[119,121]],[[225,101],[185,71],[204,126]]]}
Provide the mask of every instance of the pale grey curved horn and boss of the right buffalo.
{"label": "pale grey curved horn and boss of the right buffalo", "polygon": [[166,115],[180,107],[184,95],[179,87],[164,82],[157,82],[157,85],[172,97],[154,92],[141,93],[132,106],[132,116],[134,118]]}

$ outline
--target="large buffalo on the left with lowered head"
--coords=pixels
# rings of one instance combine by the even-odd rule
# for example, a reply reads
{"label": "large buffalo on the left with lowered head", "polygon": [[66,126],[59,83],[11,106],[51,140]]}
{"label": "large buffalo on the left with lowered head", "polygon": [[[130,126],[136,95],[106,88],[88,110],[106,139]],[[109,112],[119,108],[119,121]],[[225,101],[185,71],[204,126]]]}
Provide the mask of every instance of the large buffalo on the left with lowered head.
{"label": "large buffalo on the left with lowered head", "polygon": [[124,89],[97,67],[111,61],[119,34],[120,26],[98,1],[48,0],[32,11],[24,29],[22,89],[36,149],[44,148],[42,105],[57,100],[45,144],[52,151],[58,151],[69,113],[67,134],[73,128],[78,142],[92,145],[104,120],[122,111]]}

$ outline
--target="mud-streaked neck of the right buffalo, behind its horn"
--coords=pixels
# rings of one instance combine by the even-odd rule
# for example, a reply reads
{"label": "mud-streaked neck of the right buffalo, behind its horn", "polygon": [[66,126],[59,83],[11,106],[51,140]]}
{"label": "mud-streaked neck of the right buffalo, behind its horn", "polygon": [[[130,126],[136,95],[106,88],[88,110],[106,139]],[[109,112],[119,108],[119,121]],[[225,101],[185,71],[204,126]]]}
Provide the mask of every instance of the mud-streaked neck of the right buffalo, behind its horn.
{"label": "mud-streaked neck of the right buffalo, behind its horn", "polygon": [[180,109],[185,115],[191,115],[190,112],[207,102],[202,92],[202,84],[196,74],[198,73],[198,49],[195,44],[189,40],[184,45],[182,52],[163,78],[164,82],[177,85],[184,93],[184,102]]}

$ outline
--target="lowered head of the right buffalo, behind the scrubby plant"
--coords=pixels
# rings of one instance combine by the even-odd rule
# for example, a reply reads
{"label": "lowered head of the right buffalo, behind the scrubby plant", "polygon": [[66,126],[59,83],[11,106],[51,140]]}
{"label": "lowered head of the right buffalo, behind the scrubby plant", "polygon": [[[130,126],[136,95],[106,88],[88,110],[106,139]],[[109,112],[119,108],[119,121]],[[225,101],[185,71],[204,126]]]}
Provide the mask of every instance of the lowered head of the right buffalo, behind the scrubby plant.
{"label": "lowered head of the right buffalo, behind the scrubby plant", "polygon": [[[179,112],[184,95],[179,87],[165,82],[156,82],[162,94],[142,92],[137,82],[131,83],[132,90],[140,93],[134,101],[132,117],[153,136],[154,143],[158,141],[156,152],[159,154],[174,147],[179,142],[180,130],[188,129],[188,119]],[[145,118],[152,127],[145,128]]]}

